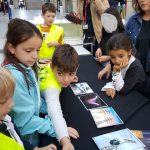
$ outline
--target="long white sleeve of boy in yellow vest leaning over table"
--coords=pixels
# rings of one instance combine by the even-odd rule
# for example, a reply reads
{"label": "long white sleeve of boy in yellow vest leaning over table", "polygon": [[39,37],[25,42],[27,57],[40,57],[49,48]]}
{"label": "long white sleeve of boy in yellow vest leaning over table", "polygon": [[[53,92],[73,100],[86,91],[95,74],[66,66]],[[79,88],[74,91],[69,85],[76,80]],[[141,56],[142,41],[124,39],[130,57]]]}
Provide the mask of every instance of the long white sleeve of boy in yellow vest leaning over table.
{"label": "long white sleeve of boy in yellow vest leaning over table", "polygon": [[58,140],[60,141],[63,137],[69,137],[59,100],[60,91],[57,88],[49,88],[43,92],[47,103],[48,115],[52,120]]}

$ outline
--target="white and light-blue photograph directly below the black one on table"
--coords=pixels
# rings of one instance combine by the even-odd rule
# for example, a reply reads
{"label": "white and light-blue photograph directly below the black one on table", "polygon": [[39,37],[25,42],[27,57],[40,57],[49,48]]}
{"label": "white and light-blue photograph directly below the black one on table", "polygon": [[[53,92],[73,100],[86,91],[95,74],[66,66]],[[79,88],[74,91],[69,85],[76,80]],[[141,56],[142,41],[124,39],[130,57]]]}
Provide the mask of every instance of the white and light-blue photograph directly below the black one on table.
{"label": "white and light-blue photograph directly below the black one on table", "polygon": [[90,110],[97,128],[123,124],[123,121],[112,107]]}

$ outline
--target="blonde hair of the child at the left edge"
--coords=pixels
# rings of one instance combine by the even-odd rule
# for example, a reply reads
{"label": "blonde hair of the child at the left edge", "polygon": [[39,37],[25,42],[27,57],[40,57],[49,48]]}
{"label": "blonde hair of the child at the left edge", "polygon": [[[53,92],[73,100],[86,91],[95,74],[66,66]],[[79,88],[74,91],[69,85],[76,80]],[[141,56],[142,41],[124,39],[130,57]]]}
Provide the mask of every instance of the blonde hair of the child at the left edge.
{"label": "blonde hair of the child at the left edge", "polygon": [[0,67],[0,100],[12,97],[15,89],[15,80],[11,73]]}

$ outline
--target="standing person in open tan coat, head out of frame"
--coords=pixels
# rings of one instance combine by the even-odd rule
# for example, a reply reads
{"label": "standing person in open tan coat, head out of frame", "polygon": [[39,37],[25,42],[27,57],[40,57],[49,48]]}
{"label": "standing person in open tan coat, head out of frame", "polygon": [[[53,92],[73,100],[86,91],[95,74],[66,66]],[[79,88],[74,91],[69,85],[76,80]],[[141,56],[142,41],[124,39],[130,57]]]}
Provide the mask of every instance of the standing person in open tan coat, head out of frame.
{"label": "standing person in open tan coat, head out of frame", "polygon": [[102,38],[101,14],[108,7],[108,0],[79,0],[78,14],[83,20],[83,44],[88,51],[92,51],[91,45],[86,45],[86,43],[94,44],[93,56],[95,56],[95,51],[99,49]]}

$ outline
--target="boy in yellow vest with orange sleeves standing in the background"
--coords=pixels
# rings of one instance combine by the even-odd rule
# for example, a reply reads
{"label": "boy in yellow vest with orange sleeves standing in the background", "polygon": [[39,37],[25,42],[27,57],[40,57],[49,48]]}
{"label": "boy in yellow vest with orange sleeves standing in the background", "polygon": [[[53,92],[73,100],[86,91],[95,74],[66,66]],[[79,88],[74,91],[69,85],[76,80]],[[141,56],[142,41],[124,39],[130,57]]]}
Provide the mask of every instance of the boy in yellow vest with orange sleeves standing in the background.
{"label": "boy in yellow vest with orange sleeves standing in the background", "polygon": [[42,16],[44,18],[44,23],[37,26],[43,36],[39,58],[47,60],[52,58],[55,48],[64,43],[64,31],[62,27],[53,24],[56,17],[56,8],[54,4],[45,3],[42,6]]}

